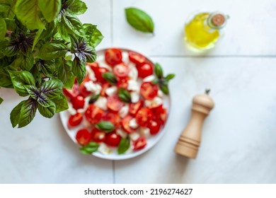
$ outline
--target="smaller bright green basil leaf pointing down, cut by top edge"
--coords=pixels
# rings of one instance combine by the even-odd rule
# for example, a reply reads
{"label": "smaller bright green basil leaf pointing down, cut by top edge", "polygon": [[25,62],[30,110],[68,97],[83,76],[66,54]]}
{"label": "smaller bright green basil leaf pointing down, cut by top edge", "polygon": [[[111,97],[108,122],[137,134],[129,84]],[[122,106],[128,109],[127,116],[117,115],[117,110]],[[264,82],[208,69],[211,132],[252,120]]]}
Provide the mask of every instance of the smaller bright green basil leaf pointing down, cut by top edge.
{"label": "smaller bright green basil leaf pointing down, cut by top edge", "polygon": [[61,0],[38,0],[38,6],[40,7],[40,11],[48,22],[54,20],[57,17],[60,9],[62,8]]}

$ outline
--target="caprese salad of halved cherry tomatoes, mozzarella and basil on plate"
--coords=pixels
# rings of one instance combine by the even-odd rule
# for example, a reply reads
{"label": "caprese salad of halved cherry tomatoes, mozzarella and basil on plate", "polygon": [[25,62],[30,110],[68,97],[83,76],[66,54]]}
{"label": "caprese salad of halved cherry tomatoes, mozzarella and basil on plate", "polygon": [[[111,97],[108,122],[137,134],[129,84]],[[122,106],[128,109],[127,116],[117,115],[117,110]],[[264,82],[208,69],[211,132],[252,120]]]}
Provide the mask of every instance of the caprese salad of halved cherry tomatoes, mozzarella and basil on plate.
{"label": "caprese salad of halved cherry tomatoes, mozzarella and basil on plate", "polygon": [[159,64],[137,52],[105,50],[97,62],[86,64],[86,78],[71,90],[69,127],[80,127],[75,138],[81,153],[118,154],[139,151],[158,134],[168,115],[163,96],[168,81]]}

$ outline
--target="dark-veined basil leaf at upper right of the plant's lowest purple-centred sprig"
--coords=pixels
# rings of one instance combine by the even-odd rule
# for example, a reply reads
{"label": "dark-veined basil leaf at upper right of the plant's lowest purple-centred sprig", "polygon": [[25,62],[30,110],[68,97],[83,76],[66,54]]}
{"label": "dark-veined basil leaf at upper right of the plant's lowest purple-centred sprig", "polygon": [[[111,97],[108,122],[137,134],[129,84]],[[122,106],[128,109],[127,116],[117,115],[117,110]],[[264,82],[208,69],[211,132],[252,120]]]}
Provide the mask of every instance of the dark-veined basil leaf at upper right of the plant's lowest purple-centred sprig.
{"label": "dark-veined basil leaf at upper right of the plant's lowest purple-centred sprig", "polygon": [[44,93],[47,98],[54,99],[62,93],[62,87],[62,81],[59,81],[58,79],[51,79],[42,83],[40,92]]}

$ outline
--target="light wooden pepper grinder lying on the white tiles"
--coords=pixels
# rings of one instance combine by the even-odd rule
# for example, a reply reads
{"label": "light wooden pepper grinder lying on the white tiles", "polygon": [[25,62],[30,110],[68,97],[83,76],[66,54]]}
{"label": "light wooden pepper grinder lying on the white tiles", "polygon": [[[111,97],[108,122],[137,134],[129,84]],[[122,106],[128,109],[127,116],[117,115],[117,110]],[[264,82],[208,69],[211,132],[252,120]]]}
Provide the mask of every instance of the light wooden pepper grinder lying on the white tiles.
{"label": "light wooden pepper grinder lying on the white tiles", "polygon": [[214,101],[209,97],[209,91],[205,94],[195,95],[192,99],[192,115],[187,127],[176,144],[175,152],[188,158],[196,158],[198,147],[200,147],[202,125],[214,107]]}

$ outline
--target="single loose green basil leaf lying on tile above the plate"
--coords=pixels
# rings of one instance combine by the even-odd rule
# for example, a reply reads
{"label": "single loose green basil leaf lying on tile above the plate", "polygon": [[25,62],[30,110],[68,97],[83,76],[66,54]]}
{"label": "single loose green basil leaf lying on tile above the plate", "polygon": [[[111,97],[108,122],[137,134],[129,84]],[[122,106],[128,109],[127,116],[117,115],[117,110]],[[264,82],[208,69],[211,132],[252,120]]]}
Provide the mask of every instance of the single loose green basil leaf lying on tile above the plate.
{"label": "single loose green basil leaf lying on tile above the plate", "polygon": [[126,8],[125,13],[132,28],[144,33],[154,33],[154,21],[147,13],[137,8]]}

